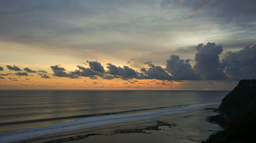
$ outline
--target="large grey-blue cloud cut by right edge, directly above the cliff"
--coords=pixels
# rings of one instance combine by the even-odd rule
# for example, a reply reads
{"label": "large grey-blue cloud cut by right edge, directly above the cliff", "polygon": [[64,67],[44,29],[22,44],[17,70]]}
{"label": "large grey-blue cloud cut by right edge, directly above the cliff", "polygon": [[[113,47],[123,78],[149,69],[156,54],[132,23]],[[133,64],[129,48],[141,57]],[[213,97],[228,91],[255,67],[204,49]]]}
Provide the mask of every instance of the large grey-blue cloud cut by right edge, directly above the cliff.
{"label": "large grey-blue cloud cut by right edge, directly above the cliff", "polygon": [[245,46],[239,52],[226,52],[223,58],[225,72],[232,80],[256,78],[256,44]]}

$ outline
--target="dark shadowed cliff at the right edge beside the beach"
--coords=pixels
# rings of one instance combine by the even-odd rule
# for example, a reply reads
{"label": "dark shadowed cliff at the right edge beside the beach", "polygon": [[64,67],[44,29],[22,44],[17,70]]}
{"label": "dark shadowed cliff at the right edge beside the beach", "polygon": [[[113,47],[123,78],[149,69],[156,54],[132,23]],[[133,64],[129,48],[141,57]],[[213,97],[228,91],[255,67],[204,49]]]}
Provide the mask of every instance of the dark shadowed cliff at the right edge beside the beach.
{"label": "dark shadowed cliff at the right edge beside the beach", "polygon": [[241,80],[223,100],[219,115],[209,117],[211,123],[226,127],[224,131],[209,136],[207,143],[256,143],[256,80]]}

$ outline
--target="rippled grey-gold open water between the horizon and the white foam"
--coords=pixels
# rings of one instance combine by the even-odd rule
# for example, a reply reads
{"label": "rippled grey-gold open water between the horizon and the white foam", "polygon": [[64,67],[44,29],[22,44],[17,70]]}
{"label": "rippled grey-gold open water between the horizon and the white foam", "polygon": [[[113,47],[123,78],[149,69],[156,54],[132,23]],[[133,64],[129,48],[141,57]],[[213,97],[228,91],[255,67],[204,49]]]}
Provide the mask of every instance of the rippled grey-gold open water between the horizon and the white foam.
{"label": "rippled grey-gold open water between the horizon and the white foam", "polygon": [[0,132],[221,102],[227,91],[1,90]]}

